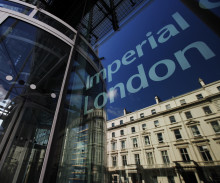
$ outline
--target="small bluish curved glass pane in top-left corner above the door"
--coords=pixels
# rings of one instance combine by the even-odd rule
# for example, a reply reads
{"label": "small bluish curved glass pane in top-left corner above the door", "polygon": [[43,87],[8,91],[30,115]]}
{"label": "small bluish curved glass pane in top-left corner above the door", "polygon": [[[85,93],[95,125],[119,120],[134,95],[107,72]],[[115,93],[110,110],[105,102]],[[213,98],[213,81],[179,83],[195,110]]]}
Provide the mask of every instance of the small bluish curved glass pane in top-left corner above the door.
{"label": "small bluish curved glass pane in top-left corner above the door", "polygon": [[6,8],[9,10],[13,10],[13,11],[17,11],[17,12],[23,13],[25,15],[29,15],[31,13],[31,11],[33,10],[33,8],[29,8],[27,6],[24,6],[24,5],[21,5],[18,3],[4,1],[4,0],[0,0],[0,7]]}

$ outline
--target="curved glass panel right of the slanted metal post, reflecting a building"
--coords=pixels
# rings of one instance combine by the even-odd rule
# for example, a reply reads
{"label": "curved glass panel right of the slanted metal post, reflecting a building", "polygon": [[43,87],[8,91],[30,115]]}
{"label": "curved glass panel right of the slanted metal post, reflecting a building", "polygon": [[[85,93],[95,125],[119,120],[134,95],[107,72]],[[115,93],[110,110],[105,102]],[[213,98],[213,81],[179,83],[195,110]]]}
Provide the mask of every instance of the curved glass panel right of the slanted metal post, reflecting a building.
{"label": "curved glass panel right of the slanted metal post, reflecting a building", "polygon": [[[104,182],[106,114],[103,108],[96,109],[94,102],[105,88],[99,82],[87,89],[86,80],[96,71],[81,54],[75,52],[72,59],[45,182]],[[102,104],[103,98],[98,102]]]}

